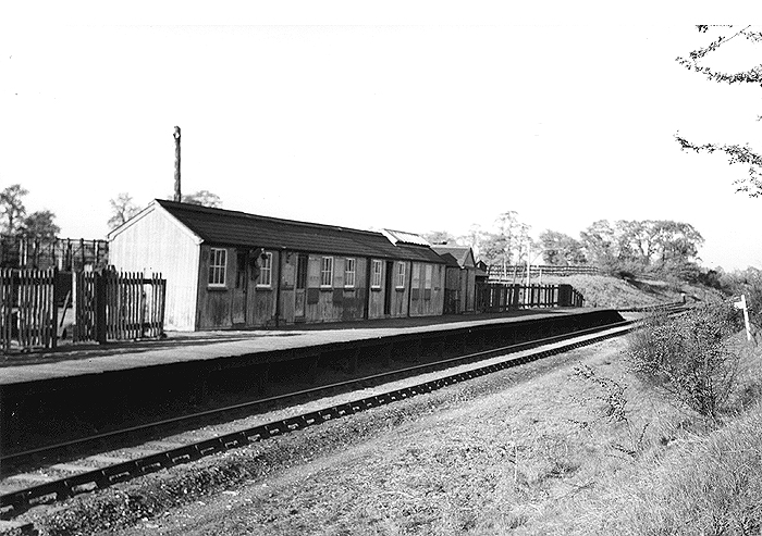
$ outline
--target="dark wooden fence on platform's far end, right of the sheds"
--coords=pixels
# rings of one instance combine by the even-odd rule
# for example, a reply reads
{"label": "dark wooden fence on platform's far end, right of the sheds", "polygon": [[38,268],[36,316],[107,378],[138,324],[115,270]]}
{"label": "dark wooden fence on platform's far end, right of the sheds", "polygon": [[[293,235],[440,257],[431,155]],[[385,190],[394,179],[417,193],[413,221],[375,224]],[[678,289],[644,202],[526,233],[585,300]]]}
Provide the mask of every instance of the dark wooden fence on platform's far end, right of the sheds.
{"label": "dark wooden fence on platform's far end, right of the sheds", "polygon": [[521,308],[582,307],[585,298],[572,285],[477,284],[477,310],[503,312]]}

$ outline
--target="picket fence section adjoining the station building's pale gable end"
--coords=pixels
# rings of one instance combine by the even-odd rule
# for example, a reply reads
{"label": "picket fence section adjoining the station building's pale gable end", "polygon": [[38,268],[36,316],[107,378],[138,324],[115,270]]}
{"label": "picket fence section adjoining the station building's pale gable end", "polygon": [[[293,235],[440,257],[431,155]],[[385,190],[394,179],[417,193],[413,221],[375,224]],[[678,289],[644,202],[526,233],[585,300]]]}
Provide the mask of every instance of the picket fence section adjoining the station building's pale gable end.
{"label": "picket fence section adjoining the station building's pale gable end", "polygon": [[75,290],[74,341],[160,337],[167,281],[161,274],[81,272]]}

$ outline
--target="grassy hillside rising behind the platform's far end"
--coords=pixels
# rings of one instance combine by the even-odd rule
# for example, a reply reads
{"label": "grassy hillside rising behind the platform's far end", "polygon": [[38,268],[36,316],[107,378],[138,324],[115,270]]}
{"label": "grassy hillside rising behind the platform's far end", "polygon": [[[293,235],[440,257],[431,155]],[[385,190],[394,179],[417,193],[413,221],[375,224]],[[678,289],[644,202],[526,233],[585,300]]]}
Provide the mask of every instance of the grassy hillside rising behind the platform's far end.
{"label": "grassy hillside rising behind the platform's far end", "polygon": [[684,282],[657,279],[619,279],[606,275],[569,275],[543,277],[543,284],[567,284],[582,292],[586,307],[630,308],[679,301],[683,292],[687,301],[716,301],[724,299],[715,289]]}

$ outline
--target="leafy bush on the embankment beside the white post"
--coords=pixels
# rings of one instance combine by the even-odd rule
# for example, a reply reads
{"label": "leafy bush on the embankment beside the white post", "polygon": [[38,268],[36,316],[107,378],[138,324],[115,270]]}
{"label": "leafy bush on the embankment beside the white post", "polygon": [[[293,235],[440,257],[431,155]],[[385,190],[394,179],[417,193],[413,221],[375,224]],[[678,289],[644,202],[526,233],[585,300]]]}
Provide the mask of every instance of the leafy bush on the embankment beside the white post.
{"label": "leafy bush on the embankment beside the white post", "polygon": [[657,314],[630,335],[634,372],[700,414],[716,419],[736,384],[739,357],[726,339],[742,327],[729,303]]}

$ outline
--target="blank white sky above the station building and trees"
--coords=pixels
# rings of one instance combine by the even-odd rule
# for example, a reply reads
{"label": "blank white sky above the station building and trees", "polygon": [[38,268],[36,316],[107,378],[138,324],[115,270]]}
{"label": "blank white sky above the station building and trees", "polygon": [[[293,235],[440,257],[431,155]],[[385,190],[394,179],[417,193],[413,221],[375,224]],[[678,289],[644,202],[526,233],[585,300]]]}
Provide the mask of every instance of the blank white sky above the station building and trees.
{"label": "blank white sky above the station building and trees", "polygon": [[[105,237],[120,192],[171,198],[179,125],[183,192],[226,209],[456,236],[508,210],[534,237],[675,220],[703,265],[762,267],[762,198],[733,185],[747,170],[674,139],[760,139],[759,87],[675,62],[716,34],[563,3],[358,3],[0,13],[0,188],[24,186],[61,236]],[[736,39],[710,64],[754,51]]]}

